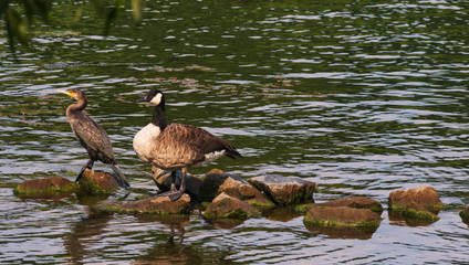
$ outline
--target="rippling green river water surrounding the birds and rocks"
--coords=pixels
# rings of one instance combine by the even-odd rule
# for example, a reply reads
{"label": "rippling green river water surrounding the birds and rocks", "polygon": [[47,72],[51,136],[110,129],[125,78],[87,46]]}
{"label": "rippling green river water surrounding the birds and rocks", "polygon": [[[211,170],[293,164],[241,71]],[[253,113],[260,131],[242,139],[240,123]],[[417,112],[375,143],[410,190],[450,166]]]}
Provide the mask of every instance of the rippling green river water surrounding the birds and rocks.
{"label": "rippling green river water surrounding the birds and rocks", "polygon": [[[0,39],[0,263],[442,264],[469,261],[469,3],[465,1],[155,1],[122,13],[107,38],[87,4],[55,4],[12,56]],[[81,10],[82,20],[76,21]],[[65,18],[65,19],[64,19]],[[308,230],[273,212],[237,226],[187,219],[95,215],[75,195],[21,200],[35,178],[71,180],[87,160],[65,118],[88,94],[134,193],[157,188],[132,148],[166,93],[168,119],[217,134],[244,156],[220,168],[243,178],[315,181],[316,202],[350,195],[387,209],[389,192],[432,186],[432,224],[389,216],[368,235]],[[110,169],[96,163],[95,169]]]}

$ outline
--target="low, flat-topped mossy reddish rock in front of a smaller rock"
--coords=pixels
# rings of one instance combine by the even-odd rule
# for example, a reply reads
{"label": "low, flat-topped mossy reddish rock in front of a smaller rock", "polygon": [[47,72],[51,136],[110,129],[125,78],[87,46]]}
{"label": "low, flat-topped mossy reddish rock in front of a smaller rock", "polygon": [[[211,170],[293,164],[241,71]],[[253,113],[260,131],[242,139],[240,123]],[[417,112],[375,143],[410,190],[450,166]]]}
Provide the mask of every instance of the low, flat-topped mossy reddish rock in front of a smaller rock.
{"label": "low, flat-topped mossy reddish rock in front of a smaller rock", "polygon": [[305,225],[355,227],[364,232],[374,232],[381,218],[368,209],[348,206],[313,206],[303,219]]}

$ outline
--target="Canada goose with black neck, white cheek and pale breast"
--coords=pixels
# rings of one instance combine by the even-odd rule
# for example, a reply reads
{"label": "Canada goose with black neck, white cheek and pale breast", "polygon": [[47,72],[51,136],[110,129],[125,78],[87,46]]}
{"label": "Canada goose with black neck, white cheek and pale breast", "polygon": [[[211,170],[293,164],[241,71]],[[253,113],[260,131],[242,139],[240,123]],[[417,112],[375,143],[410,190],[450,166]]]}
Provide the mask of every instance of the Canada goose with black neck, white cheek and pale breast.
{"label": "Canada goose with black neck, white cheek and pale breast", "polygon": [[[165,95],[158,89],[149,91],[137,102],[155,106],[152,123],[134,137],[134,150],[147,163],[171,171],[171,201],[179,199],[186,190],[187,170],[208,163],[226,155],[230,158],[241,155],[228,141],[192,125],[168,124],[166,121]],[[176,170],[181,170],[181,182],[176,190]]]}

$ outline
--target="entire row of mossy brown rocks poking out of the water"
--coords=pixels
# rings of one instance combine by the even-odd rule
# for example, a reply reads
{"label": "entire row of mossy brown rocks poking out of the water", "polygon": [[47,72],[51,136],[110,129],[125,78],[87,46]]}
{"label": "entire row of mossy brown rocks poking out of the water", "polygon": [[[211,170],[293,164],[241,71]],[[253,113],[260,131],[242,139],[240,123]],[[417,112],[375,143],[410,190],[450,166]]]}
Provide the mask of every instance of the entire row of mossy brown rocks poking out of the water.
{"label": "entire row of mossy brown rocks poking out of the water", "polygon": [[[154,169],[154,181],[161,191],[169,190],[170,173]],[[180,183],[181,174],[176,174]],[[314,203],[317,191],[314,182],[298,177],[261,176],[244,180],[221,170],[211,170],[204,178],[188,174],[187,193],[177,201],[165,197],[149,197],[134,201],[104,201],[93,210],[104,213],[188,215],[199,209],[209,221],[242,222],[258,218],[274,209],[293,208],[303,215],[304,225],[312,232],[331,236],[361,233],[366,239],[381,224],[383,205],[366,197],[350,197]],[[13,192],[20,198],[63,198],[71,193],[108,197],[119,189],[115,177],[85,170],[80,183],[62,177],[28,180],[18,184]],[[142,197],[140,197],[142,198]],[[444,209],[437,191],[429,186],[397,190],[389,193],[388,212],[392,221],[429,224],[439,220]],[[469,206],[460,212],[469,223]],[[230,225],[228,225],[230,226]],[[358,236],[358,237],[361,237]]]}

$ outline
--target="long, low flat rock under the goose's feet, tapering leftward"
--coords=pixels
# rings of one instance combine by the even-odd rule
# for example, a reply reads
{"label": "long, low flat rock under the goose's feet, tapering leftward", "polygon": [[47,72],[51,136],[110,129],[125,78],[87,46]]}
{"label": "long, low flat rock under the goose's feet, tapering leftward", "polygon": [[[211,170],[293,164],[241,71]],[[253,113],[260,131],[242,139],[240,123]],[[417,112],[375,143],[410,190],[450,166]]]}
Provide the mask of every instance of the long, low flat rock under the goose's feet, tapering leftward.
{"label": "long, low flat rock under the goose's feet, tapering leftward", "polygon": [[183,194],[178,200],[170,201],[168,197],[154,197],[123,204],[104,204],[97,211],[127,214],[188,214],[191,211],[190,197]]}

